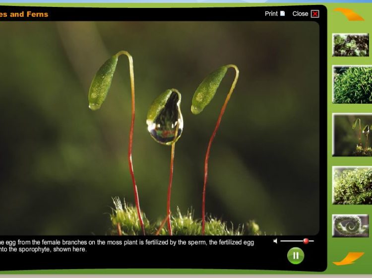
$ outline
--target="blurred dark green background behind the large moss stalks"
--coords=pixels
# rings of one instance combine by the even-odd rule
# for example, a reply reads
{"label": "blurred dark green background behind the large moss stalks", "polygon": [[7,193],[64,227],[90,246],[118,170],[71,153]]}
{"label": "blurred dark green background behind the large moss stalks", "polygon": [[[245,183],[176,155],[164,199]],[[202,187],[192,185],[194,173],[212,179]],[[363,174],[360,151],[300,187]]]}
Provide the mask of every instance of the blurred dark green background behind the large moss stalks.
{"label": "blurred dark green background behind the large moss stalks", "polygon": [[166,214],[171,148],[148,134],[164,90],[182,93],[172,210],[201,217],[203,160],[233,80],[190,112],[199,82],[241,75],[212,145],[206,210],[266,234],[316,234],[319,216],[319,41],[314,22],[1,22],[0,234],[105,234],[112,196],[133,204],[127,165],[128,64],[119,60],[98,111],[87,94],[119,50],[134,59],[133,162],[141,209]]}

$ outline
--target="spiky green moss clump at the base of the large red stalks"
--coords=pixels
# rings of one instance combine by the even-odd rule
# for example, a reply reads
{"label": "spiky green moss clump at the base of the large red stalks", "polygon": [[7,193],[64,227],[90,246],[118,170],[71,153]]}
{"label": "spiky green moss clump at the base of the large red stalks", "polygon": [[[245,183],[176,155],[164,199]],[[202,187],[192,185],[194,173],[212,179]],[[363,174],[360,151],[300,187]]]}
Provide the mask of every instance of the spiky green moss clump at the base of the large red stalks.
{"label": "spiky green moss clump at the base of the large red stalks", "polygon": [[[112,228],[110,234],[118,235],[118,223],[123,235],[142,235],[142,230],[138,222],[137,211],[135,207],[128,206],[124,202],[122,205],[118,197],[113,198],[115,208],[110,214]],[[172,215],[173,235],[201,235],[201,220],[194,219],[192,210],[187,210],[182,214],[177,208],[177,213]],[[143,224],[146,235],[155,235],[158,231],[161,220],[150,223],[146,215],[142,214]],[[167,225],[159,231],[159,235],[168,235]],[[220,219],[209,217],[205,222],[205,235],[260,235],[261,231],[255,221],[249,220],[245,225],[239,225],[236,229],[228,227],[227,222]]]}

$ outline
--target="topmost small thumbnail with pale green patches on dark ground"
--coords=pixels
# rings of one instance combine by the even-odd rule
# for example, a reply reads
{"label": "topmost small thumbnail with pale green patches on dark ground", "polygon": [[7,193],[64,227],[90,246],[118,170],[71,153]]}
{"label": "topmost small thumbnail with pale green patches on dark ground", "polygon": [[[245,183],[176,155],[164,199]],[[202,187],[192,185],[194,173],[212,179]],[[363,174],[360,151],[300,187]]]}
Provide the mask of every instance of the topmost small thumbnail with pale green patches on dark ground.
{"label": "topmost small thumbnail with pale green patches on dark ground", "polygon": [[333,34],[333,56],[370,56],[370,34]]}

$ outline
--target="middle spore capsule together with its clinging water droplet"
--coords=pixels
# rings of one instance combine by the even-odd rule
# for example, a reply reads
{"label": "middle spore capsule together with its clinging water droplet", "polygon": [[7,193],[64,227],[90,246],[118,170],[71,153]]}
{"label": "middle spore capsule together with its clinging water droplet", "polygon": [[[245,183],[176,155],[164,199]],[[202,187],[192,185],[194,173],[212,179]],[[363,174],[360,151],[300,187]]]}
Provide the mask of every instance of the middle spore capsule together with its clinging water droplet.
{"label": "middle spore capsule together with its clinging water droplet", "polygon": [[147,130],[158,143],[171,145],[182,134],[184,120],[181,114],[181,93],[166,90],[151,104],[147,113]]}

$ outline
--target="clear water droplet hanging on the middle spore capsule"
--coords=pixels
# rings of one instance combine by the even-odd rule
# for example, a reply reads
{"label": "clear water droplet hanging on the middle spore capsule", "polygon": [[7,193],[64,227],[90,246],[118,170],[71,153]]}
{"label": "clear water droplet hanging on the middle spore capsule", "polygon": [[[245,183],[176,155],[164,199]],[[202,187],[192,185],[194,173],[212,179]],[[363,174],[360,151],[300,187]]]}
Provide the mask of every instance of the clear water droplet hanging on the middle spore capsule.
{"label": "clear water droplet hanging on the middle spore capsule", "polygon": [[[155,141],[171,145],[177,141],[184,128],[181,114],[181,94],[172,91],[164,107],[159,111],[153,121],[147,120],[147,129]],[[177,133],[177,137],[176,137]]]}

